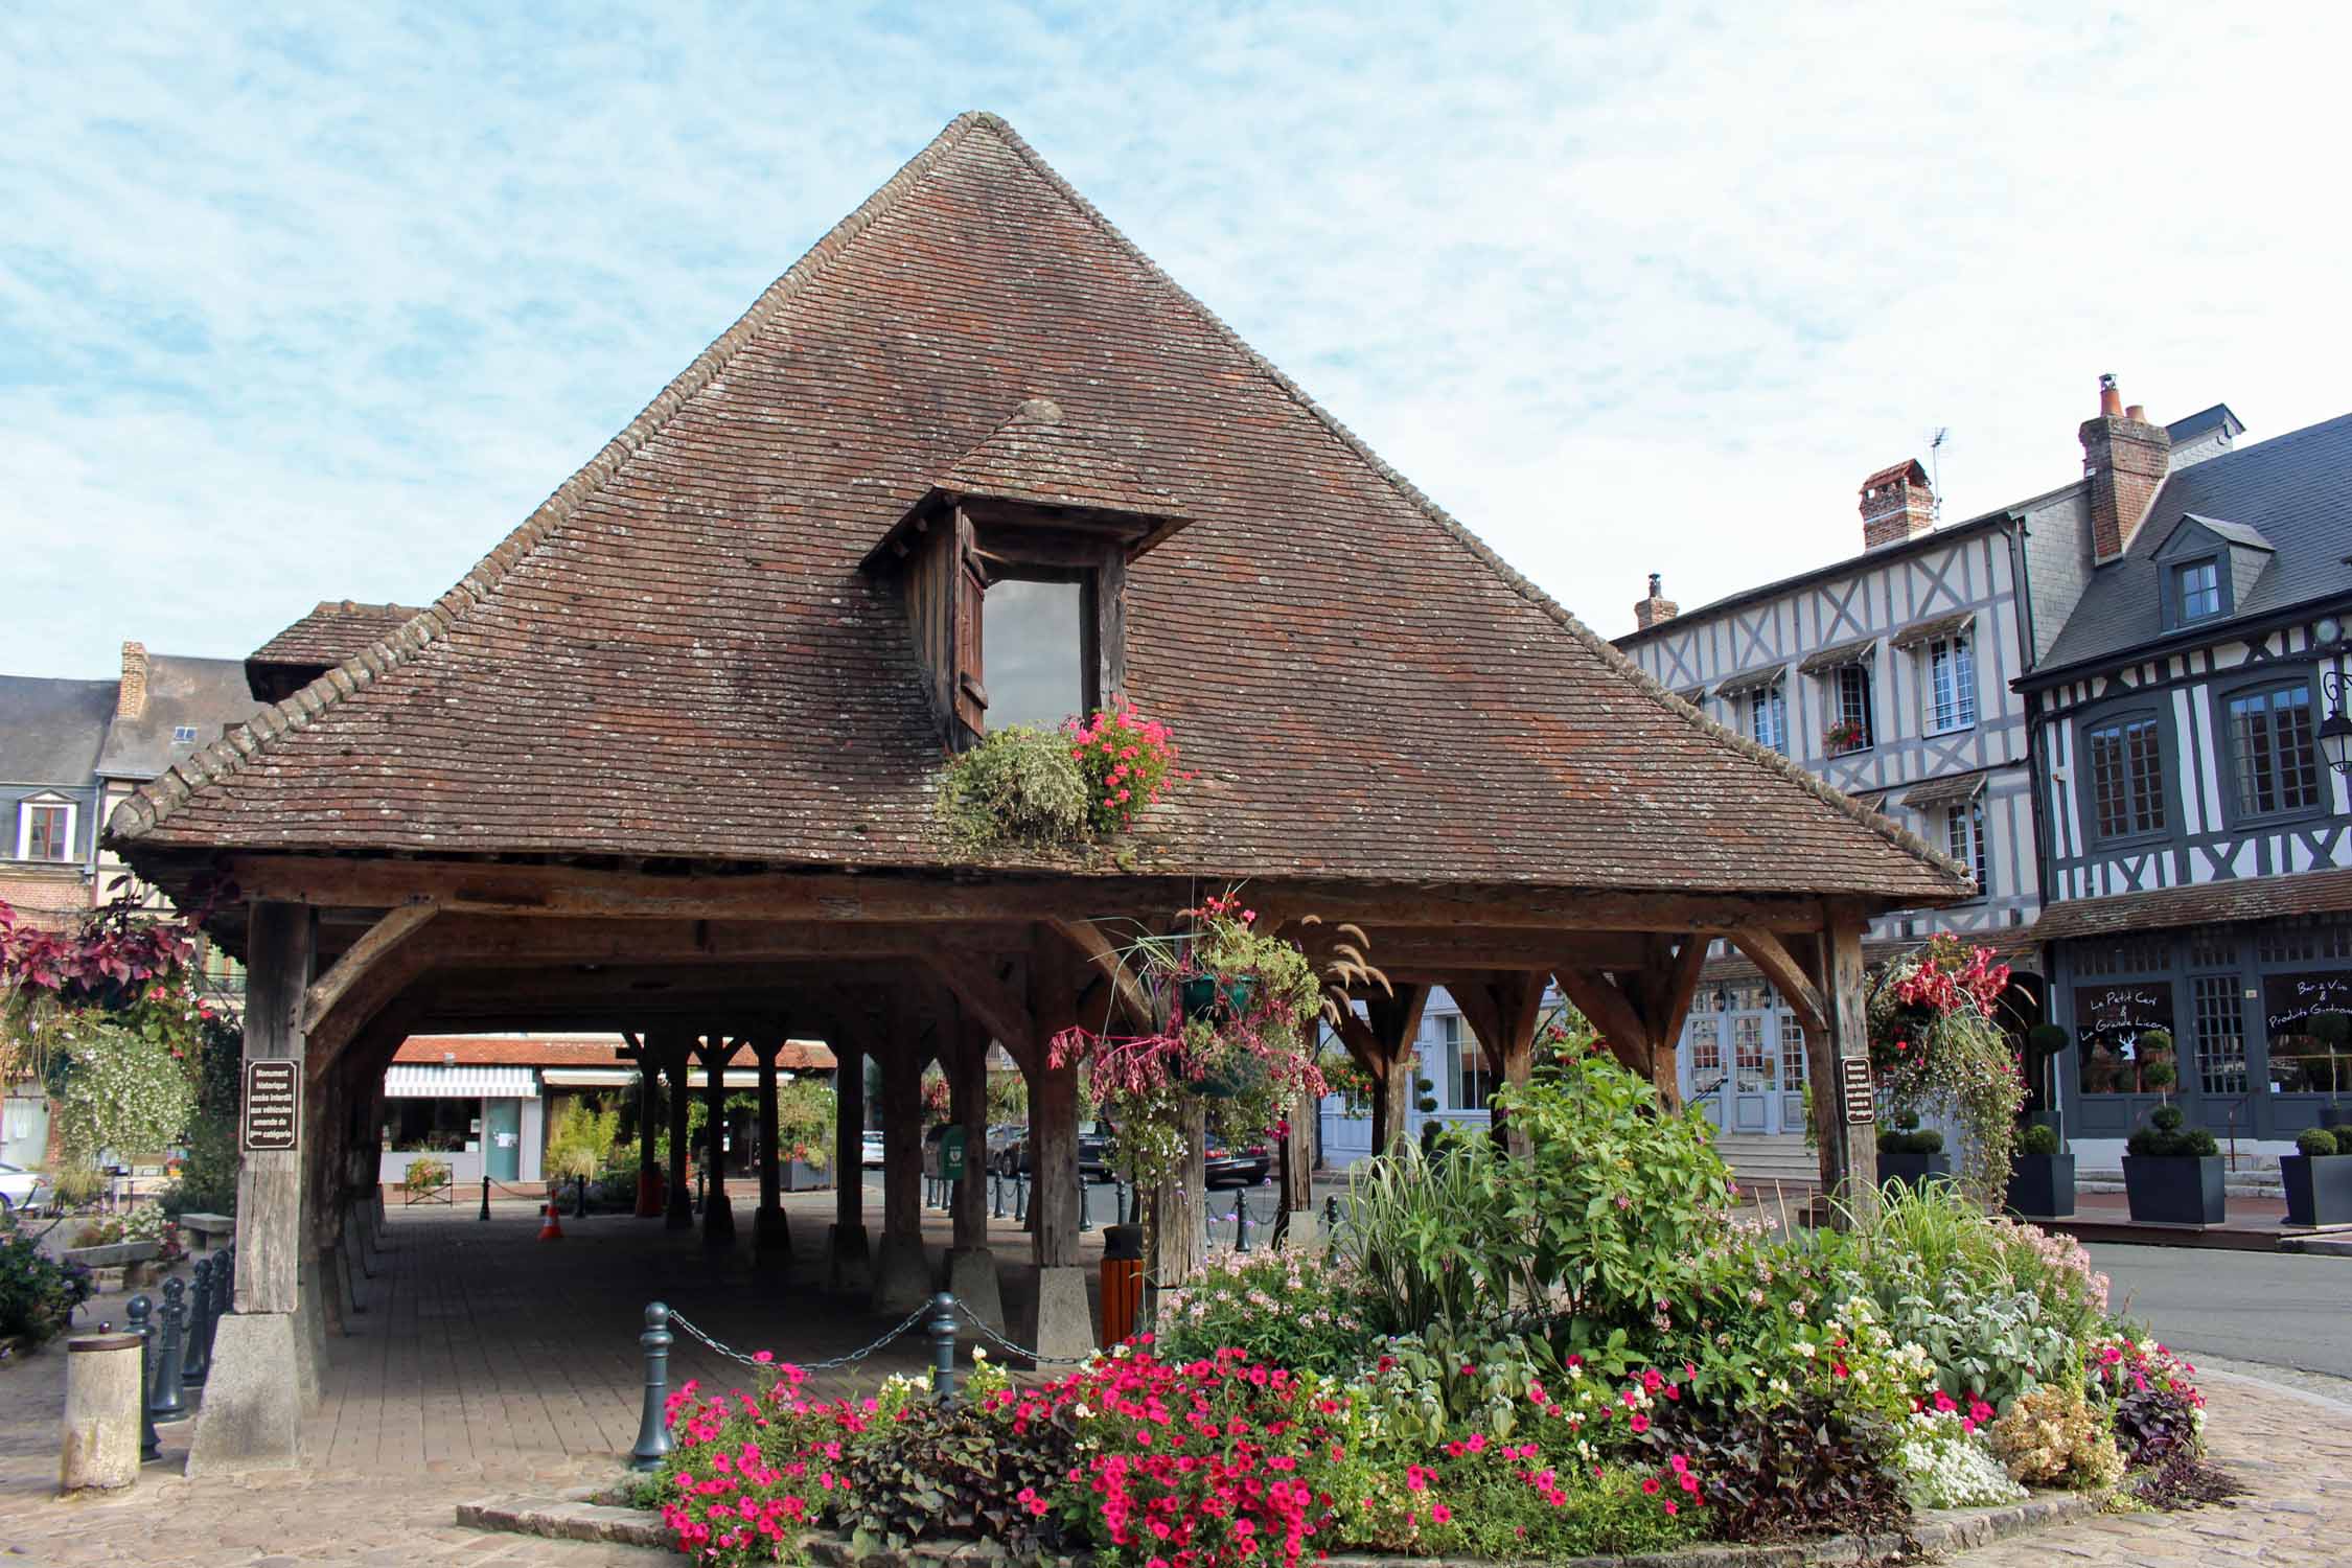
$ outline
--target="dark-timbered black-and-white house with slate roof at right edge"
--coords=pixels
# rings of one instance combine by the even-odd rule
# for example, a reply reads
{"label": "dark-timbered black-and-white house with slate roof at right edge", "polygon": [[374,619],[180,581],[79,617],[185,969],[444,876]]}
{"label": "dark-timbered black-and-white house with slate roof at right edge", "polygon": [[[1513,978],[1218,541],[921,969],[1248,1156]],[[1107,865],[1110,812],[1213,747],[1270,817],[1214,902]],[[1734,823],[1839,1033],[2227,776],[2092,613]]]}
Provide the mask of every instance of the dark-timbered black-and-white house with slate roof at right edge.
{"label": "dark-timbered black-and-white house with slate roof at right edge", "polygon": [[2352,1091],[2312,1032],[2352,1011],[2352,823],[2321,752],[2352,642],[2352,416],[2190,468],[2166,440],[2114,407],[2084,425],[2169,477],[2133,494],[2112,463],[2089,588],[2018,682],[2065,1119],[2103,1164],[2166,1098],[2286,1152]]}

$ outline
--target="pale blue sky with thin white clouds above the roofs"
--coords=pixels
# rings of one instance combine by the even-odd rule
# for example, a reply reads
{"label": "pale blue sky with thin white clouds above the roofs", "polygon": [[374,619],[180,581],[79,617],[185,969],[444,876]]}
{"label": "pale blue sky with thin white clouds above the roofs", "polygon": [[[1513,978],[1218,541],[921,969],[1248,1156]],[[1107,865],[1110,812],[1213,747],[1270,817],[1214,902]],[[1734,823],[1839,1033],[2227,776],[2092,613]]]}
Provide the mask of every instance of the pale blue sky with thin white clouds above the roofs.
{"label": "pale blue sky with thin white clouds above the roofs", "polygon": [[1602,632],[2352,409],[2347,7],[0,9],[0,670],[423,602],[964,108]]}

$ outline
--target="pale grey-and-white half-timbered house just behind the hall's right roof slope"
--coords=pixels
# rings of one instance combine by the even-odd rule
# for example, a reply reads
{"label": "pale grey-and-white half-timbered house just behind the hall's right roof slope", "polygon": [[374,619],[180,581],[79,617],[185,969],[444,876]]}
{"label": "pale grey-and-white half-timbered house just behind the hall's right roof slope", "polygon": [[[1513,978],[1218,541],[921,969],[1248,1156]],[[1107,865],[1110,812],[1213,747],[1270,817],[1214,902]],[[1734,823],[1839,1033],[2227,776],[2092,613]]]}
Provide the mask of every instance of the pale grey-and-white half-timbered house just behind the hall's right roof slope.
{"label": "pale grey-and-white half-timbered house just behind the hall's right roof slope", "polygon": [[[2225,407],[2180,421],[2166,461],[2227,451],[2237,430]],[[1637,628],[1618,637],[1684,701],[1959,860],[1973,896],[1879,917],[1870,954],[1940,931],[1987,945],[2018,973],[2020,1023],[2044,1006],[2042,867],[2027,710],[2011,682],[2049,654],[2089,581],[2093,491],[2086,475],[1938,524],[1926,468],[1896,463],[1860,484],[1860,555],[1693,611],[1653,576]],[[1804,1027],[1731,947],[1703,976],[1679,1072],[1759,1166],[1771,1150],[1738,1138],[1804,1128]]]}

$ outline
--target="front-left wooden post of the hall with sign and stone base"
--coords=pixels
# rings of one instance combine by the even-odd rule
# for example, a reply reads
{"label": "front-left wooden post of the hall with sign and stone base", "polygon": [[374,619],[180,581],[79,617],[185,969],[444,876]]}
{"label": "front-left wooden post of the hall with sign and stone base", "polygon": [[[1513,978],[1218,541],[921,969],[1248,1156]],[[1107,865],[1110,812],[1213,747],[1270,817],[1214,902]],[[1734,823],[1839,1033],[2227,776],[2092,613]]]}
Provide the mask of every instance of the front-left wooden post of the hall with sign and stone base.
{"label": "front-left wooden post of the hall with sign and stone base", "polygon": [[[318,952],[308,907],[256,900],[245,945],[245,1065],[294,1065],[303,1081],[303,990]],[[270,1070],[275,1072],[275,1070]],[[249,1121],[245,1107],[240,1121]],[[303,1128],[308,1117],[296,1117]],[[245,1128],[240,1128],[242,1135]],[[296,1133],[299,1138],[299,1133]],[[247,1150],[238,1173],[235,1312],[221,1319],[205,1401],[188,1441],[188,1474],[292,1467],[313,1363],[301,1324],[301,1178],[308,1150]],[[315,1288],[315,1284],[313,1284]],[[313,1307],[315,1309],[315,1307]]]}

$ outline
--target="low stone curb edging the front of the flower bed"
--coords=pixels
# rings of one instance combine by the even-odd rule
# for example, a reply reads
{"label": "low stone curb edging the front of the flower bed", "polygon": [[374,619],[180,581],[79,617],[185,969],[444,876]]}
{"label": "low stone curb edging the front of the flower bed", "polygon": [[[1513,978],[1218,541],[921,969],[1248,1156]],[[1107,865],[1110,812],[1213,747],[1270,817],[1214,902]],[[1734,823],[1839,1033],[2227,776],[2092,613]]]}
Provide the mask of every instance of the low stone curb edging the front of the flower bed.
{"label": "low stone curb edging the front of the flower bed", "polygon": [[[1809,1568],[1811,1563],[1891,1563],[1924,1554],[1969,1552],[2011,1535],[2086,1519],[2105,1509],[2107,1493],[2037,1493],[2025,1502],[1994,1509],[1936,1509],[1912,1519],[1907,1530],[1884,1535],[1828,1535],[1769,1547],[1691,1547],[1649,1556],[1578,1556],[1548,1561],[1543,1568]],[[670,1530],[656,1514],[586,1500],[482,1497],[456,1505],[456,1521],[473,1530],[508,1535],[543,1535],[550,1540],[593,1540],[619,1547],[670,1552]],[[901,1554],[851,1556],[847,1542],[811,1535],[809,1556],[835,1568],[875,1568],[898,1561],[1009,1561],[988,1542],[920,1542]],[[1084,1559],[1054,1559],[1084,1561]],[[1331,1554],[1319,1568],[1512,1568],[1491,1559],[1430,1556],[1359,1556]]]}

